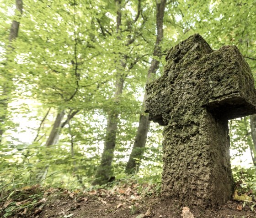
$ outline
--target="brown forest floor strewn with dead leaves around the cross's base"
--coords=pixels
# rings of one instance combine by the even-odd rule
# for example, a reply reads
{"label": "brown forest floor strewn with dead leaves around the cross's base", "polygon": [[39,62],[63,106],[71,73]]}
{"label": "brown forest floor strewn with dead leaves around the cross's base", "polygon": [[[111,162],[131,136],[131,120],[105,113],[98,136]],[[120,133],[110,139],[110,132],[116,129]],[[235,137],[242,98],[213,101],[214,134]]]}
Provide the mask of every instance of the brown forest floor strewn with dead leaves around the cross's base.
{"label": "brown forest floor strewn with dead leaves around the cross's base", "polygon": [[[4,197],[5,196],[5,197]],[[255,203],[256,204],[256,203]],[[199,211],[194,218],[256,218],[254,203],[229,201],[219,210]],[[119,184],[109,189],[68,191],[39,185],[0,196],[0,218],[193,218],[164,200],[147,184]]]}

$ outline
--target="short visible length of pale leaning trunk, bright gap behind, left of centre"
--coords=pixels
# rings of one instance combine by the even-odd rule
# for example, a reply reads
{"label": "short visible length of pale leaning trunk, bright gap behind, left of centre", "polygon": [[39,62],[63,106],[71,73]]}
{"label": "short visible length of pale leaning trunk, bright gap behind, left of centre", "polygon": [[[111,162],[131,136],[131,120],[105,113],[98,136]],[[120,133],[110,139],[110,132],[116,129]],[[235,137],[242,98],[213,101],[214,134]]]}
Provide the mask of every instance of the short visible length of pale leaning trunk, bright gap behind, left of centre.
{"label": "short visible length of pale leaning trunk, bright gap behind, left of centre", "polygon": [[61,122],[62,122],[62,119],[64,117],[64,110],[61,111],[61,112],[58,112],[57,114],[57,117],[54,121],[54,124],[53,124],[53,128],[50,132],[50,135],[47,139],[47,142],[46,142],[46,147],[48,146],[51,146],[51,145],[55,145],[58,143],[59,141],[59,130],[60,130],[60,127],[61,127]]}

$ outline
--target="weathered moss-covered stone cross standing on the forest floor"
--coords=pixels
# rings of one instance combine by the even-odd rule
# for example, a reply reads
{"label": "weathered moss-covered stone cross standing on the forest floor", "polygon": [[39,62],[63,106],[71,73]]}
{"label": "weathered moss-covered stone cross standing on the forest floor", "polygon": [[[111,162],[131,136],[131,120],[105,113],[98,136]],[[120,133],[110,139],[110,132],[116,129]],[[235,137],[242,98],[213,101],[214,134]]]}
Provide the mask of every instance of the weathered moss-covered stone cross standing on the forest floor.
{"label": "weathered moss-covered stone cross standing on the forest floor", "polygon": [[256,113],[249,65],[236,46],[213,51],[195,34],[168,51],[146,86],[149,120],[164,125],[162,195],[217,208],[232,196],[228,120]]}

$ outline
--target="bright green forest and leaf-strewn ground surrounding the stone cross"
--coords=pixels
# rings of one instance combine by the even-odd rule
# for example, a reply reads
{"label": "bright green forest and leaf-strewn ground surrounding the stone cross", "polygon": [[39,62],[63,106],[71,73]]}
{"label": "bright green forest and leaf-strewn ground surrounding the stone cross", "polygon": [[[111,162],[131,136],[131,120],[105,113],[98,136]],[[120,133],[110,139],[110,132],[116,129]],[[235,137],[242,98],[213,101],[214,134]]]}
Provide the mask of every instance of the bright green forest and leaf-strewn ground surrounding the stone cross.
{"label": "bright green forest and leaf-strewn ground surrounding the stone cross", "polygon": [[206,210],[161,198],[165,127],[145,112],[197,33],[256,78],[256,0],[0,0],[0,20],[1,218],[256,217],[256,114],[228,121],[235,188]]}

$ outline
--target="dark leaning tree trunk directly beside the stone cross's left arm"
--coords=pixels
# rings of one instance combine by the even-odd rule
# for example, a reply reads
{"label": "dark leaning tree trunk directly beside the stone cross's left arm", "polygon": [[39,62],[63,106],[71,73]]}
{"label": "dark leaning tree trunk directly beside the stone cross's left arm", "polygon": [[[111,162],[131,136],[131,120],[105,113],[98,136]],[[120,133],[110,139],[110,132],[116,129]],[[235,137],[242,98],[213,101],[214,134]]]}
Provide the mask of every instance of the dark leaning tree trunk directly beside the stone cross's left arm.
{"label": "dark leaning tree trunk directly beside the stone cross's left arm", "polygon": [[[165,12],[165,3],[166,0],[157,0],[156,2],[156,27],[157,27],[157,37],[155,41],[155,47],[153,56],[157,56],[158,58],[161,57],[161,41],[163,39],[163,18],[164,18],[164,12]],[[159,61],[156,59],[153,59],[151,61],[148,75],[147,75],[147,83],[152,80],[152,78],[155,76],[155,72],[159,68]],[[142,111],[145,109],[145,101],[147,99],[147,93],[144,93],[144,99],[142,104]],[[139,117],[139,127],[137,129],[135,141],[133,144],[133,149],[131,152],[131,155],[129,157],[129,160],[126,165],[126,172],[128,174],[133,174],[134,172],[137,172],[139,169],[139,163],[141,162],[142,155],[144,153],[144,147],[146,145],[147,141],[147,134],[149,131],[149,125],[150,121],[148,119],[148,114],[140,114]]]}

